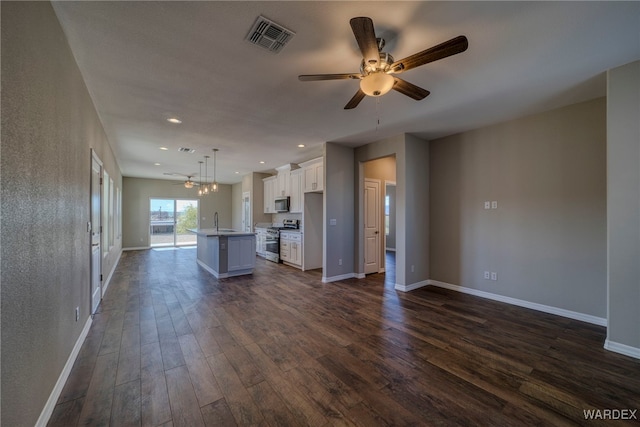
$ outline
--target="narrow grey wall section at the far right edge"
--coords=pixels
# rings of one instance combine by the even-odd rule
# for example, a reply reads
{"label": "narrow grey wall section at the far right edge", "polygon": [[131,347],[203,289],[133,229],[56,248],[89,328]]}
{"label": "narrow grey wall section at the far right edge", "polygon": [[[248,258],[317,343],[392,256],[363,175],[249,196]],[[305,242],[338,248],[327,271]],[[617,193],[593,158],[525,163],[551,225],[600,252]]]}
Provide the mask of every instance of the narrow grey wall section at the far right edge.
{"label": "narrow grey wall section at the far right edge", "polygon": [[640,61],[607,76],[607,348],[640,358]]}

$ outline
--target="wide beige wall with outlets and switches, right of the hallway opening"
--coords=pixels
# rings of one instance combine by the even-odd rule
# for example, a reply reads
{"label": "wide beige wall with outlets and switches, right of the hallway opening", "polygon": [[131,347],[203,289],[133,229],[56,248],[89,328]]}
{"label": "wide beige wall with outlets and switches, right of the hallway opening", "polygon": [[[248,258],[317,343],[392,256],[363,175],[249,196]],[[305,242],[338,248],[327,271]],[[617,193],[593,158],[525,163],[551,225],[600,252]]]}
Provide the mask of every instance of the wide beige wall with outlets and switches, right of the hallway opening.
{"label": "wide beige wall with outlets and switches, right of the hallway opening", "polygon": [[431,279],[606,317],[604,98],[430,150]]}

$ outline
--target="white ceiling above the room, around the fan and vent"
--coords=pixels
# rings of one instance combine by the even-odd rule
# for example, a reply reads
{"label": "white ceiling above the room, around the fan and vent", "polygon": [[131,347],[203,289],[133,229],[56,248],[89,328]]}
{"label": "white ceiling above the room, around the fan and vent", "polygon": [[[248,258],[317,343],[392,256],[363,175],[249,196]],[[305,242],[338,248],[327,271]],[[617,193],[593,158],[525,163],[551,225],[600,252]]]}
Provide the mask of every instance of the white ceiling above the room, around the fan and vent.
{"label": "white ceiling above the room, around the fan and vent", "polygon": [[[604,72],[640,59],[640,2],[63,1],[54,8],[122,173],[132,177],[197,172],[218,148],[217,180],[234,183],[317,157],[326,141],[355,147],[403,132],[441,137],[603,96]],[[295,33],[280,53],[245,40],[259,15]],[[358,72],[355,16],[373,19],[396,60],[457,35],[467,36],[469,49],[402,74],[431,91],[422,101],[391,91],[344,110],[357,81],[297,76]],[[168,123],[171,116],[183,123]]]}

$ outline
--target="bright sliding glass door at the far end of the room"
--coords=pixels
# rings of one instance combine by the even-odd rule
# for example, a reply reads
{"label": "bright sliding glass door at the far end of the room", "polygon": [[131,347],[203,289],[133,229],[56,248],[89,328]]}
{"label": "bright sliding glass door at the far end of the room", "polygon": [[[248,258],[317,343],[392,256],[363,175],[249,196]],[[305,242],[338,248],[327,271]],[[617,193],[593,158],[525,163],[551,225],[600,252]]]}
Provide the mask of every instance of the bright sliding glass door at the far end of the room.
{"label": "bright sliding glass door at the far end of the room", "polygon": [[150,199],[149,245],[151,247],[193,246],[198,228],[197,199]]}

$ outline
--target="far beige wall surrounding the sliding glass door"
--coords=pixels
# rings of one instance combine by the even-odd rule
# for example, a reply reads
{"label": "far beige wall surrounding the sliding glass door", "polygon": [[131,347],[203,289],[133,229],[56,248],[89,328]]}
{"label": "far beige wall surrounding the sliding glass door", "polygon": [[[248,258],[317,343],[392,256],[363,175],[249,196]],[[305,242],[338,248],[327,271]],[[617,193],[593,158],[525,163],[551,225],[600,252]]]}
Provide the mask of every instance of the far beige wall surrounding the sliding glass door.
{"label": "far beige wall surrounding the sliding glass door", "polygon": [[217,193],[198,196],[194,188],[184,188],[181,181],[163,179],[123,179],[122,247],[149,247],[149,199],[175,198],[199,200],[200,228],[213,227],[214,212],[218,212],[219,227],[232,226],[231,185],[220,184]]}

